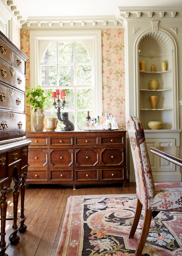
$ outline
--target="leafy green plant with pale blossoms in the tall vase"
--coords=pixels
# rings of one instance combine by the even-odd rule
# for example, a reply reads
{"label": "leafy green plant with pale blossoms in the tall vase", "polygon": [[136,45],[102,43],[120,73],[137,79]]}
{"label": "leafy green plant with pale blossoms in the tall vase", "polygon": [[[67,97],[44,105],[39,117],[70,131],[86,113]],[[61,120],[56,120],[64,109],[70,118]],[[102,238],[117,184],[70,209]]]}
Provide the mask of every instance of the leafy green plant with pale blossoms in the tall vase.
{"label": "leafy green plant with pale blossoms in the tall vase", "polygon": [[25,93],[26,97],[29,99],[27,100],[27,106],[31,104],[32,108],[40,107],[40,109],[46,109],[50,105],[52,105],[51,97],[52,97],[52,90],[49,90],[48,92],[45,91],[41,86],[37,85],[34,88],[30,89],[30,87],[27,89],[27,92]]}

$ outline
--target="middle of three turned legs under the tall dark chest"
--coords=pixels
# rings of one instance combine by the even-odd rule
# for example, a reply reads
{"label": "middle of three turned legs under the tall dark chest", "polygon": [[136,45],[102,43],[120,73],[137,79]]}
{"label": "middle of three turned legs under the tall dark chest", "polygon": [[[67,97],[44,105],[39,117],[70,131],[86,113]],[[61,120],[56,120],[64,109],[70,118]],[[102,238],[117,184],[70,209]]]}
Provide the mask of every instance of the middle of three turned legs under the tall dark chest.
{"label": "middle of three turned legs under the tall dark chest", "polygon": [[13,227],[12,228],[18,228],[17,220],[18,220],[18,199],[19,199],[19,180],[14,180],[14,191],[13,191]]}

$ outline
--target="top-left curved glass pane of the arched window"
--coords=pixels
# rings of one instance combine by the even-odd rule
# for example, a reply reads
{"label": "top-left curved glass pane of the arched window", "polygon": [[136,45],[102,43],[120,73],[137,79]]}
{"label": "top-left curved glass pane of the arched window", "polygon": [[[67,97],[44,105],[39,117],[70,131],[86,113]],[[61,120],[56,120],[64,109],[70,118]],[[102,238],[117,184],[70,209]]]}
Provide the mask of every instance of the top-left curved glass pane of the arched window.
{"label": "top-left curved glass pane of the arched window", "polygon": [[57,64],[57,43],[49,43],[41,64]]}

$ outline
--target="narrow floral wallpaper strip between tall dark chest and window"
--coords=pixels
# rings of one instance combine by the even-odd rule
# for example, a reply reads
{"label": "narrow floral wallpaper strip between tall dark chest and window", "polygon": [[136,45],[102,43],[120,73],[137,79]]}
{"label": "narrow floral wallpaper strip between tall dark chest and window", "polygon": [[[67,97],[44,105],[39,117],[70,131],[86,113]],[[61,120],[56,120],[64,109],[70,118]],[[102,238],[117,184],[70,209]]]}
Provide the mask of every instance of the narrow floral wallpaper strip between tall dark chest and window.
{"label": "narrow floral wallpaper strip between tall dark chest and window", "polygon": [[[25,91],[30,87],[30,31],[21,30],[21,51],[29,58],[26,62],[26,83]],[[25,99],[26,132],[31,131],[30,106],[27,106]]]}

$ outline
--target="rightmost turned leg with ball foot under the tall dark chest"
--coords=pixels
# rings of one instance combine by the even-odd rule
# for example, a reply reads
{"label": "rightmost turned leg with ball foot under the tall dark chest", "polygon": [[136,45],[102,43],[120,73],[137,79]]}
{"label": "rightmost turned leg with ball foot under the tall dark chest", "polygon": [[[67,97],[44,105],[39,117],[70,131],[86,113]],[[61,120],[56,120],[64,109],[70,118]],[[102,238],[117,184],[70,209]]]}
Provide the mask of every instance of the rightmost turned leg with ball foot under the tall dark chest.
{"label": "rightmost turned leg with ball foot under the tall dark chest", "polygon": [[[27,173],[24,172],[21,176],[21,184],[20,184],[20,194],[21,194],[21,208],[20,208],[21,215],[20,215],[20,218],[25,217],[25,215],[24,215],[24,210],[25,210],[24,209],[24,200],[25,200],[25,190],[26,190],[26,185],[25,185],[26,178],[27,178]],[[24,221],[21,222],[19,231],[24,232],[26,229],[27,229],[27,226],[24,224]]]}

